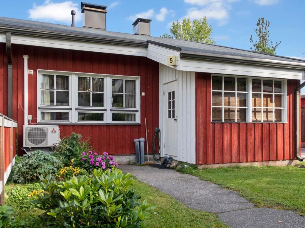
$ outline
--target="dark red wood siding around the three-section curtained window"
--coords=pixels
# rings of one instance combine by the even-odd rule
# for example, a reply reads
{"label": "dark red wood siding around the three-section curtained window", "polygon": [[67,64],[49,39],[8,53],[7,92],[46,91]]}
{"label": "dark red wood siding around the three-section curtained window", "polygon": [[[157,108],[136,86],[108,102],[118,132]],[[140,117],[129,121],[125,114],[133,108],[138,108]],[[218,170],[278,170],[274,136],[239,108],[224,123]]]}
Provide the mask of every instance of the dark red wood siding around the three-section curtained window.
{"label": "dark red wood siding around the three-section curtained window", "polygon": [[[0,43],[0,112],[7,114],[7,63],[5,44]],[[97,152],[110,154],[133,154],[133,139],[145,137],[145,117],[147,119],[148,143],[152,148],[152,138],[159,126],[159,64],[146,57],[118,54],[106,54],[77,50],[64,50],[26,45],[12,45],[13,55],[13,119],[18,121],[19,153],[22,153],[24,112],[24,62],[28,55],[28,69],[34,70],[28,75],[28,114],[32,123],[37,118],[37,70],[73,71],[96,74],[117,74],[140,76],[141,125],[60,125],[60,136],[71,132],[90,137],[90,143]],[[19,104],[19,105],[18,105]]]}

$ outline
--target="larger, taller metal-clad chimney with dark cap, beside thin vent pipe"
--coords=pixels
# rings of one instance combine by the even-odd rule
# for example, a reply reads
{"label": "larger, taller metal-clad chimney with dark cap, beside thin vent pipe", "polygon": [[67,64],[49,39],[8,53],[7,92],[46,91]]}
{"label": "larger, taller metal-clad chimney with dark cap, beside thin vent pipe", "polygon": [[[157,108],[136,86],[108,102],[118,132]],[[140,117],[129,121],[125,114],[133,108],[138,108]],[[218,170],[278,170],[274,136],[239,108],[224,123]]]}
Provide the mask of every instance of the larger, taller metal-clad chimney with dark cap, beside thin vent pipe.
{"label": "larger, taller metal-clad chimney with dark cap, beside thin vent pipe", "polygon": [[81,12],[84,13],[84,27],[106,29],[106,8],[106,5],[81,2]]}

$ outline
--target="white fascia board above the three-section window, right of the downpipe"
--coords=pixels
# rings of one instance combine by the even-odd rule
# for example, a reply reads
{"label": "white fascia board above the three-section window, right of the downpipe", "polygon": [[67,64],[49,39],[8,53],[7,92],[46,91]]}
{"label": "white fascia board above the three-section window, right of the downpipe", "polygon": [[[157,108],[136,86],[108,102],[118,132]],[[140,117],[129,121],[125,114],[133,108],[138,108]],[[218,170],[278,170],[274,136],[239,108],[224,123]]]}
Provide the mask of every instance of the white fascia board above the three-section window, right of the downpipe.
{"label": "white fascia board above the three-section window, right of the downpipe", "polygon": [[53,47],[70,50],[94,51],[103,53],[145,56],[147,55],[146,47],[132,47],[124,45],[91,43],[73,40],[48,39],[31,36],[12,35],[12,43],[33,45],[39,47]]}

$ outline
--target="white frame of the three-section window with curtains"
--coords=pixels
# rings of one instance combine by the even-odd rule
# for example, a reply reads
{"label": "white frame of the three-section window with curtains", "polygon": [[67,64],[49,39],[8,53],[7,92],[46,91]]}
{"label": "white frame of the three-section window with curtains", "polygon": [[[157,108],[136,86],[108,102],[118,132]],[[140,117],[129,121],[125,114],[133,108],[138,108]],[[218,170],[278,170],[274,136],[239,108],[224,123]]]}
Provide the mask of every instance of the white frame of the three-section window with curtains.
{"label": "white frame of the three-section window with curtains", "polygon": [[[69,75],[69,106],[41,105],[41,74]],[[104,78],[104,107],[78,106],[78,77]],[[135,80],[136,102],[135,108],[112,108],[112,79]],[[91,83],[91,82],[90,82]],[[122,76],[113,74],[91,74],[70,71],[37,70],[37,122],[38,123],[83,123],[83,124],[140,124],[140,77]],[[91,91],[92,92],[92,91]],[[69,121],[66,120],[41,120],[41,112],[69,112]],[[104,113],[104,121],[78,120],[78,112]],[[134,113],[135,121],[112,121],[112,113]]]}

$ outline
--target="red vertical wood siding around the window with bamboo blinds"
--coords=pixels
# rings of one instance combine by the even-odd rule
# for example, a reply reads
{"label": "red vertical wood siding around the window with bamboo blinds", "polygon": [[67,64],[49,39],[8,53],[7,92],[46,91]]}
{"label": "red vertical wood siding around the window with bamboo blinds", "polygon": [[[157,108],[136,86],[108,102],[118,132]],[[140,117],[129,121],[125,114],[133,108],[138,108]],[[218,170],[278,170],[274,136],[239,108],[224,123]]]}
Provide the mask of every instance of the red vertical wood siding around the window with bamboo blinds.
{"label": "red vertical wood siding around the window with bamboo blinds", "polygon": [[211,74],[196,73],[196,163],[294,159],[294,89],[287,81],[288,123],[212,123]]}

